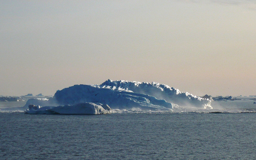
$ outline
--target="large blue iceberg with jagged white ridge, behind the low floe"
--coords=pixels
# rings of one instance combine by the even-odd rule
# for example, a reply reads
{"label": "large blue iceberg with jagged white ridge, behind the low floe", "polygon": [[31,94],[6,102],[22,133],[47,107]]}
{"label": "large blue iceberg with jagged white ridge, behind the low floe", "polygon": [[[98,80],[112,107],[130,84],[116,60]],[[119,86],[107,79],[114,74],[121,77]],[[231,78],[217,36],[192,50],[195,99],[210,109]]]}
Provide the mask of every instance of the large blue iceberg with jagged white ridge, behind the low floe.
{"label": "large blue iceberg with jagged white ridge, behind the low floe", "polygon": [[112,81],[108,79],[101,85],[74,85],[58,90],[48,101],[29,99],[29,104],[40,106],[65,106],[79,103],[100,103],[111,109],[170,110],[172,104],[211,108],[209,99],[180,92],[178,89],[159,83],[140,83],[137,81]]}

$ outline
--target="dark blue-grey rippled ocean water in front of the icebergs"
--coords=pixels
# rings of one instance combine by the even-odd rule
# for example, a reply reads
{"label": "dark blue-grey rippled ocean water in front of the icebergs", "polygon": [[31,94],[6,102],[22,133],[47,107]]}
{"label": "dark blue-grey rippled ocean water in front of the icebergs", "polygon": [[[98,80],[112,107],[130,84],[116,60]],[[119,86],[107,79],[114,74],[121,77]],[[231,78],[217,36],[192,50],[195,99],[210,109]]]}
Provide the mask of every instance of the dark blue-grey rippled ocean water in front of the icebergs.
{"label": "dark blue-grey rippled ocean water in front of the icebergs", "polygon": [[256,159],[256,113],[0,113],[1,160]]}

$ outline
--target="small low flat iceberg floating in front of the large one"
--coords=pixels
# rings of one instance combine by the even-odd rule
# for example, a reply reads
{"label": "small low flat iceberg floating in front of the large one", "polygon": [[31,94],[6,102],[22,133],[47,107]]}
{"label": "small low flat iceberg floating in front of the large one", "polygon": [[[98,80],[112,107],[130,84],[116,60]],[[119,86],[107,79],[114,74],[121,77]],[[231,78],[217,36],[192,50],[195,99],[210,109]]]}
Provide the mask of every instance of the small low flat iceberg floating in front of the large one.
{"label": "small low flat iceberg floating in front of the large one", "polygon": [[25,113],[29,114],[76,114],[76,115],[100,115],[110,114],[111,109],[108,105],[100,103],[79,103],[76,105],[65,106],[45,106],[29,105]]}

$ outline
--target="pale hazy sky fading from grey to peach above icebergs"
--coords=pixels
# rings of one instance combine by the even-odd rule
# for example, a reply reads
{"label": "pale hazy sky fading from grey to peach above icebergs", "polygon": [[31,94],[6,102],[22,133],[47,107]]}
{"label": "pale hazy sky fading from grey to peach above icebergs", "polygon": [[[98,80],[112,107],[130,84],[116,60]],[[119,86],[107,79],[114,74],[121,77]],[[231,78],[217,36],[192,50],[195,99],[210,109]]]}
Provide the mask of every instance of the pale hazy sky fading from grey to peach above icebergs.
{"label": "pale hazy sky fading from grey to peach above icebergs", "polygon": [[0,0],[0,95],[108,79],[256,95],[256,1]]}

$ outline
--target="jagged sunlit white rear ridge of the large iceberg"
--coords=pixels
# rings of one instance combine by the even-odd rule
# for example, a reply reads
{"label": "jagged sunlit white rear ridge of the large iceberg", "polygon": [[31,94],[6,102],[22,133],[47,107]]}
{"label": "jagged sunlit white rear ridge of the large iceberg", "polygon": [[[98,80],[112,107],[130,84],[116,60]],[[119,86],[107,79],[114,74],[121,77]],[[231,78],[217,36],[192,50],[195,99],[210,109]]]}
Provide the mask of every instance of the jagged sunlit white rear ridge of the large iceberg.
{"label": "jagged sunlit white rear ridge of the large iceberg", "polygon": [[188,92],[180,92],[178,89],[159,83],[140,83],[137,81],[112,81],[108,79],[99,88],[108,88],[114,91],[130,91],[134,93],[147,94],[157,99],[164,99],[169,103],[184,106],[210,107],[211,101],[194,96]]}

